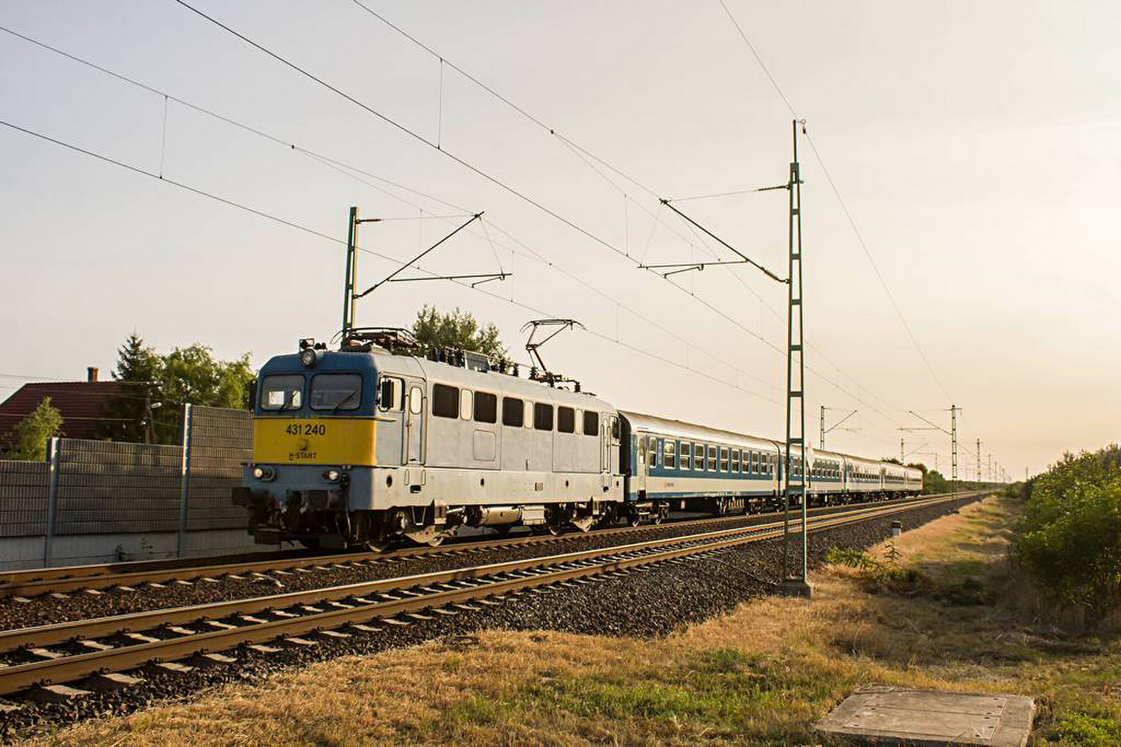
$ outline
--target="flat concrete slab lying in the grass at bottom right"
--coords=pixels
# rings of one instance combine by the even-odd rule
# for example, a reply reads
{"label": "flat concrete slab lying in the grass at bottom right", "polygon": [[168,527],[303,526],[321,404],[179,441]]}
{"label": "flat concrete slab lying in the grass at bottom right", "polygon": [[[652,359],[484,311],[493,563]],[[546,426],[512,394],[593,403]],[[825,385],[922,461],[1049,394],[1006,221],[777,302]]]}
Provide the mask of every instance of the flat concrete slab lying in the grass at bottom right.
{"label": "flat concrete slab lying in the grass at bottom right", "polygon": [[1023,747],[1035,701],[1026,695],[861,688],[817,723],[822,735],[869,745]]}

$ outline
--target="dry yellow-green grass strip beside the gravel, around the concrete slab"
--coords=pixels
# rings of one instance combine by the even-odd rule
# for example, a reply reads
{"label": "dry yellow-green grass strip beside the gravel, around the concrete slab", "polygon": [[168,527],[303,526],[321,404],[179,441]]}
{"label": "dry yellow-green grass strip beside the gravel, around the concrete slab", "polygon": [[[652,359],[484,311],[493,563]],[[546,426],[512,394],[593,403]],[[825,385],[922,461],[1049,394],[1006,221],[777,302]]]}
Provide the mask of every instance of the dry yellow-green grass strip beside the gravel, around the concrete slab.
{"label": "dry yellow-green grass strip beside the gravel, around the concrete slab", "polygon": [[881,682],[1034,695],[1037,738],[1119,744],[1121,646],[1040,631],[1012,609],[1017,505],[989,498],[904,534],[893,551],[873,549],[904,569],[880,581],[828,567],[813,578],[813,601],[758,599],[666,639],[488,632],[226,687],[50,740],[814,744],[816,719]]}

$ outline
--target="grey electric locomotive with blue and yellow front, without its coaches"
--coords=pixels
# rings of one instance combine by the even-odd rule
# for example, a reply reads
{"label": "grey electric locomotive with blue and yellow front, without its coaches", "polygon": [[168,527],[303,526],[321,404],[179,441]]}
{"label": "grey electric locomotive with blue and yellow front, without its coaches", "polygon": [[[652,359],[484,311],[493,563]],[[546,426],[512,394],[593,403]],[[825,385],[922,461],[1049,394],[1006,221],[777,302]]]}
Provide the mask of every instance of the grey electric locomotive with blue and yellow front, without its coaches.
{"label": "grey electric locomotive with blue and yellow front, without its coaches", "polygon": [[620,419],[405,330],[305,339],[261,368],[234,501],[259,543],[439,544],[456,527],[587,530],[626,513]]}

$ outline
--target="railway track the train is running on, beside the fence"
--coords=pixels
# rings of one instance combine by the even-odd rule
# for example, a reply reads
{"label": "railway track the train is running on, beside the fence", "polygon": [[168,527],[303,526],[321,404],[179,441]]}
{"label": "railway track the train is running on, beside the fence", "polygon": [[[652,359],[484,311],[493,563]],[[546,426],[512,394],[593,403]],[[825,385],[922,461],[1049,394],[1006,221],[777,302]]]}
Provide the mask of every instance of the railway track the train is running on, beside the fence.
{"label": "railway track the train is running on, beside the fence", "polygon": [[[949,495],[949,494],[946,494]],[[969,495],[969,494],[958,494]],[[890,505],[908,505],[915,501],[929,497],[895,501]],[[847,504],[842,506],[819,506],[810,508],[809,515],[823,515],[859,508],[862,506],[884,505],[882,502]],[[642,524],[639,526],[619,526],[594,532],[594,536],[641,536],[666,526],[680,529],[702,527],[735,521],[759,522],[768,516],[780,516],[781,513],[761,513],[748,516],[722,516],[670,522],[668,524]],[[103,563],[96,566],[71,566],[65,568],[44,568],[27,571],[0,572],[0,598],[30,598],[44,594],[67,594],[73,591],[122,588],[137,589],[146,585],[216,580],[219,578],[253,580],[268,572],[293,573],[299,571],[327,570],[331,566],[353,567],[368,562],[393,562],[421,555],[465,555],[493,549],[504,549],[534,544],[564,544],[590,536],[587,533],[573,532],[565,534],[546,534],[529,536],[508,536],[491,540],[464,541],[441,547],[401,548],[382,552],[349,552],[349,553],[308,553],[307,551],[270,553],[270,557],[259,559],[251,555],[222,558],[222,562],[201,562],[174,560],[155,560],[126,563]]]}

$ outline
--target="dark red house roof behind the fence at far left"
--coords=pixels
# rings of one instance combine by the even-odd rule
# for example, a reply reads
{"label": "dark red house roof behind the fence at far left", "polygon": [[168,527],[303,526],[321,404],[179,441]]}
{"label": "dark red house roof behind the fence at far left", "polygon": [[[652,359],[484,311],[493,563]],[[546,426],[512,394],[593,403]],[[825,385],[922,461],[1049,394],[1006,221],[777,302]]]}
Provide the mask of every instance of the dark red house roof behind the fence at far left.
{"label": "dark red house roof behind the fence at far left", "polygon": [[63,415],[63,433],[67,438],[95,438],[106,404],[121,389],[120,382],[99,381],[98,370],[92,366],[86,370],[85,381],[24,384],[0,403],[0,451],[15,446],[9,433],[48,396],[52,407]]}

